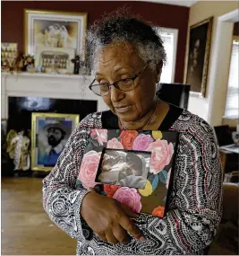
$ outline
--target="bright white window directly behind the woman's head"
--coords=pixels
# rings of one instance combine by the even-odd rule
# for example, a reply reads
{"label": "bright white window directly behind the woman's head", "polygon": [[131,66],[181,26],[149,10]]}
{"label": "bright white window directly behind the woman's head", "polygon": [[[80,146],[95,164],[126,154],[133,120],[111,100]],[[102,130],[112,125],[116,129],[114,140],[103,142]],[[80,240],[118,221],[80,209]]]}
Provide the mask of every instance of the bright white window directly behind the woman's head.
{"label": "bright white window directly behind the woman's head", "polygon": [[163,67],[160,83],[174,83],[178,30],[158,28],[158,31],[166,50],[166,66]]}

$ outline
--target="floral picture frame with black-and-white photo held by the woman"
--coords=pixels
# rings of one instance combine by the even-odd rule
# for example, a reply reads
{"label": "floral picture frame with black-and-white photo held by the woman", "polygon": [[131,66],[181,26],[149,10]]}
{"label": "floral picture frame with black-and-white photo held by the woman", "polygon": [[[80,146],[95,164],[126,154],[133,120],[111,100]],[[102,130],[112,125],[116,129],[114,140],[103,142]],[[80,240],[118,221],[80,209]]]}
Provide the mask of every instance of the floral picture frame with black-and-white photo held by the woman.
{"label": "floral picture frame with black-and-white photo held by the woman", "polygon": [[133,212],[164,217],[178,133],[92,128],[76,189],[95,190]]}

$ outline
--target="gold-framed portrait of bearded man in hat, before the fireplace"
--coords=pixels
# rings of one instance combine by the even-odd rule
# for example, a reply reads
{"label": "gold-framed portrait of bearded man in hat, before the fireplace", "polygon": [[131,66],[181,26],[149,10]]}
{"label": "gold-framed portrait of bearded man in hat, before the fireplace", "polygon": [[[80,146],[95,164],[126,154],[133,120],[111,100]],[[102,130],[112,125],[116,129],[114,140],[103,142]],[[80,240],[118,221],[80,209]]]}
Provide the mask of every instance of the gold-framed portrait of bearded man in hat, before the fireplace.
{"label": "gold-framed portrait of bearded man in hat, before the fireplace", "polygon": [[31,170],[51,171],[78,124],[79,115],[33,112],[31,114]]}

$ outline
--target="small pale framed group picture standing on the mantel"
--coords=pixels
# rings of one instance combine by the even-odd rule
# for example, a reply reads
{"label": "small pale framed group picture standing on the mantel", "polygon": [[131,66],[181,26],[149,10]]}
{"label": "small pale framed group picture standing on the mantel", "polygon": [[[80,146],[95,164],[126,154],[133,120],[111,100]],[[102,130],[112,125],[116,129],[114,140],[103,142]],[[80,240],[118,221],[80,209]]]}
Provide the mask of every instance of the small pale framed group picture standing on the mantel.
{"label": "small pale framed group picture standing on the mantel", "polygon": [[74,64],[71,61],[75,56],[75,50],[70,48],[48,48],[38,46],[36,48],[35,66],[41,67],[43,73],[71,73]]}

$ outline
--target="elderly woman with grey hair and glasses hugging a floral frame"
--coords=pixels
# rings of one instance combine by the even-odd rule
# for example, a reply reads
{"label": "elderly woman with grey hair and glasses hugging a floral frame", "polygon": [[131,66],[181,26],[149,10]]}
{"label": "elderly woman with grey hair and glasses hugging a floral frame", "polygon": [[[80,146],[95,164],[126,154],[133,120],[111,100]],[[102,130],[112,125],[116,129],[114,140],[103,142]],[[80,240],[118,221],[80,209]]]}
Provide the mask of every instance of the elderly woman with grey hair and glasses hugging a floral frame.
{"label": "elderly woman with grey hair and glasses hugging a floral frame", "polygon": [[[138,18],[111,15],[88,33],[87,65],[95,72],[90,90],[110,110],[81,120],[43,187],[48,216],[78,240],[77,254],[204,254],[216,234],[222,196],[217,142],[206,121],[157,99],[165,60],[160,36]],[[136,215],[112,198],[75,189],[90,128],[180,134],[164,218]]]}

